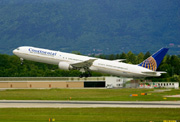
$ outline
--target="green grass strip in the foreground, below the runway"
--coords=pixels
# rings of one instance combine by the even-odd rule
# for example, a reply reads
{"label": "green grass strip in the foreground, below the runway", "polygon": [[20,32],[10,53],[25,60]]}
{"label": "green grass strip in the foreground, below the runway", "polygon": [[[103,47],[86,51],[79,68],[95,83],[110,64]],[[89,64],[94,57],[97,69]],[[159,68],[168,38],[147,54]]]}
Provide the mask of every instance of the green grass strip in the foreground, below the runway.
{"label": "green grass strip in the foreground, below the runway", "polygon": [[179,115],[180,109],[171,108],[1,108],[0,122],[163,122]]}

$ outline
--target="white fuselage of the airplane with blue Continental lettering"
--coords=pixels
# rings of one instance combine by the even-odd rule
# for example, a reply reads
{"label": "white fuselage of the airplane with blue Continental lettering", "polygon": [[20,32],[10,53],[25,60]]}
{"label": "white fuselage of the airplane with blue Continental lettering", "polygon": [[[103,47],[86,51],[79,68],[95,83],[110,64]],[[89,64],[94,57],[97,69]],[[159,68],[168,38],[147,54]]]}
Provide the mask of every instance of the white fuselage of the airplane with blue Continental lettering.
{"label": "white fuselage of the airplane with blue Continental lettering", "polygon": [[[127,64],[123,62],[93,58],[88,56],[76,55],[71,53],[64,53],[59,51],[47,50],[42,48],[35,48],[23,46],[13,51],[15,55],[20,58],[42,62],[47,64],[58,65],[60,62],[68,64],[84,62],[89,59],[96,59],[89,67],[91,71],[107,73],[122,77],[154,77],[160,76],[159,73],[145,74],[143,72],[154,72],[138,65]],[[60,67],[61,68],[61,67]]]}

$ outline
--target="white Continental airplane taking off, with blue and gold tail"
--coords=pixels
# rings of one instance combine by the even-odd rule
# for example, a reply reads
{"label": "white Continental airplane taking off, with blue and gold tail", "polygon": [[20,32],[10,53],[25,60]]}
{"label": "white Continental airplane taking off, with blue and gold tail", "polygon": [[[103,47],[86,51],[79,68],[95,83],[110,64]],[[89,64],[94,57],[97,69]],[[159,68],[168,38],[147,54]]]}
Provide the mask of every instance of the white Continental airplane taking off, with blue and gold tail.
{"label": "white Continental airplane taking off, with blue and gold tail", "polygon": [[91,71],[130,78],[158,77],[164,71],[156,71],[168,48],[161,48],[142,63],[133,65],[124,63],[124,59],[106,60],[60,51],[21,46],[13,53],[23,60],[58,65],[63,70],[79,70],[80,77],[90,77]]}

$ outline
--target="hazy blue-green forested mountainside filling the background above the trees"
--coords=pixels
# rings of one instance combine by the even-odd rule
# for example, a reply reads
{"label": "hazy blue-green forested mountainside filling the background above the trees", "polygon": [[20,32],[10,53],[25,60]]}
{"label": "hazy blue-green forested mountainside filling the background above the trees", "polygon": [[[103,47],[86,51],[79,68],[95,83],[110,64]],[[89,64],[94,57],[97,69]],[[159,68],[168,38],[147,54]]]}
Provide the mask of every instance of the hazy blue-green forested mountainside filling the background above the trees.
{"label": "hazy blue-green forested mountainside filling the background above the trees", "polygon": [[18,46],[180,54],[179,0],[1,0],[0,53]]}

